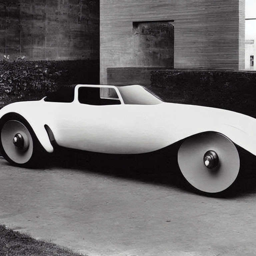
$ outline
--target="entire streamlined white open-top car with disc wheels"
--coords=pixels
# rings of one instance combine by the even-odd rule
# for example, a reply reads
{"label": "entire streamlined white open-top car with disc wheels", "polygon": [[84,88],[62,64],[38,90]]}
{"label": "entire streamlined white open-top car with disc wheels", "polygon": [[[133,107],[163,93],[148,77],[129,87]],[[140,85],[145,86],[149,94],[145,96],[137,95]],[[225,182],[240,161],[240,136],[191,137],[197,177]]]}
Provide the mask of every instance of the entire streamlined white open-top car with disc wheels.
{"label": "entire streamlined white open-top car with disc wheels", "polygon": [[226,190],[240,169],[237,145],[256,155],[256,119],[236,112],[161,101],[139,85],[63,87],[38,101],[0,110],[1,151],[29,166],[59,146],[142,154],[181,142],[179,168],[206,193]]}

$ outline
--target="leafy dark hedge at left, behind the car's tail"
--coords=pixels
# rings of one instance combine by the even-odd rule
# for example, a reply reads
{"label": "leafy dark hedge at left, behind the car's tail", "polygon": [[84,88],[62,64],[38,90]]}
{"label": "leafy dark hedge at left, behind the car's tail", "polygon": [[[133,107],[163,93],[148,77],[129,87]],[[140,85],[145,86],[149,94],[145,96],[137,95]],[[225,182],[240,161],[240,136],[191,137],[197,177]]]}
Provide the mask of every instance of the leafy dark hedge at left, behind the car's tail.
{"label": "leafy dark hedge at left, behind the car's tail", "polygon": [[60,85],[98,84],[99,62],[0,61],[0,108],[15,102],[40,99]]}

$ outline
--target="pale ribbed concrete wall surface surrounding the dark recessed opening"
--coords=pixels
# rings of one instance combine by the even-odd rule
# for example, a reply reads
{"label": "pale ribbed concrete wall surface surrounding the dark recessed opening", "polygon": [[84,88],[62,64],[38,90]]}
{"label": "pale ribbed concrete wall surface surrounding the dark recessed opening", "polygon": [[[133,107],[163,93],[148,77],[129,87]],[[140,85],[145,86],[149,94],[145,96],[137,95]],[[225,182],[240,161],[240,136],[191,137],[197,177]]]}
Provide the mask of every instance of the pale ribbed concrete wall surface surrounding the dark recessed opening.
{"label": "pale ribbed concrete wall surface surrounding the dark recessed opening", "polygon": [[243,66],[244,0],[101,0],[100,19],[101,83],[108,67],[145,67],[133,59],[133,22],[174,20],[174,68]]}

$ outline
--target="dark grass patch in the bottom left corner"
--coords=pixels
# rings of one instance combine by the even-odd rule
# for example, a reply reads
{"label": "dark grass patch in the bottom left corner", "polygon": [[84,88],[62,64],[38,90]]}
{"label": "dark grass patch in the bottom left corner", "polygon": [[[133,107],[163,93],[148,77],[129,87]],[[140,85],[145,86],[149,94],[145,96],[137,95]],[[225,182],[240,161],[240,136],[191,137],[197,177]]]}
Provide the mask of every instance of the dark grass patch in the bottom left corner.
{"label": "dark grass patch in the bottom left corner", "polygon": [[51,242],[36,240],[27,234],[0,225],[0,256],[82,256]]}

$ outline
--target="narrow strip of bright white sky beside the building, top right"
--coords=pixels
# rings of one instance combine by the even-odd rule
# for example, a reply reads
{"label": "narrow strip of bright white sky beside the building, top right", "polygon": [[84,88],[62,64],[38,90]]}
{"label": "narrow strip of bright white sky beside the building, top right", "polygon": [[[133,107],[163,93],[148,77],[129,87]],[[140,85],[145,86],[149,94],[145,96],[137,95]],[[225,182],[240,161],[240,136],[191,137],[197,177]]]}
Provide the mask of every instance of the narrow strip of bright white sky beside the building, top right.
{"label": "narrow strip of bright white sky beside the building, top right", "polygon": [[[256,18],[256,0],[245,0],[245,18]],[[256,20],[245,21],[245,39],[256,39]]]}

